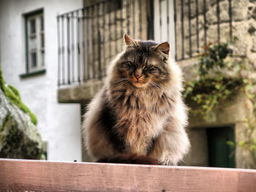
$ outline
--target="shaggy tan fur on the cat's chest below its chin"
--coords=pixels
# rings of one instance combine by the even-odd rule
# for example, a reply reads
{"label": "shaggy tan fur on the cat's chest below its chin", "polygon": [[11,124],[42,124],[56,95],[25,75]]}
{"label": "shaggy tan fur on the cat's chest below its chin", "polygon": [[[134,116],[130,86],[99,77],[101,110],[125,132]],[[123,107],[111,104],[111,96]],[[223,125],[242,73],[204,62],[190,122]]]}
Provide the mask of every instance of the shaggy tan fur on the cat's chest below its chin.
{"label": "shaggy tan fur on the cat's chest below its chin", "polygon": [[116,113],[115,129],[127,150],[146,154],[169,117],[171,100],[164,92],[124,90],[111,94]]}

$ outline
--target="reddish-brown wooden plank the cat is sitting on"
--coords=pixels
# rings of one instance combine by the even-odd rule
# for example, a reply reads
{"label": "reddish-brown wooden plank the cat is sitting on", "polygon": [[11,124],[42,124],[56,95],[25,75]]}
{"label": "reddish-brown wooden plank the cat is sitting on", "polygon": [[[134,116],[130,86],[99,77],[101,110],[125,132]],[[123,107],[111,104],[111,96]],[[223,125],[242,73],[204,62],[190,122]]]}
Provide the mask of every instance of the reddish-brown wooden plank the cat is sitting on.
{"label": "reddish-brown wooden plank the cat is sitting on", "polygon": [[0,191],[256,191],[256,170],[0,159]]}

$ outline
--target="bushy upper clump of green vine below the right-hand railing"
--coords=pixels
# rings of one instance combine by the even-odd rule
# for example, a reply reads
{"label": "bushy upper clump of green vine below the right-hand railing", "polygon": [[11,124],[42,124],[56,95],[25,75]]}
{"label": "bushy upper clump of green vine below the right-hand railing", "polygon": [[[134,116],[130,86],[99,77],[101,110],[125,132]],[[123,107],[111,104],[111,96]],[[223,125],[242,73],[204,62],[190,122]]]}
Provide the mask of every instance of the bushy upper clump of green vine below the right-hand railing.
{"label": "bushy upper clump of green vine below the right-hand railing", "polygon": [[[195,80],[186,82],[184,97],[192,104],[193,113],[207,118],[208,112],[231,94],[245,90],[252,94],[252,64],[247,58],[232,54],[232,45],[219,43],[204,47],[199,62],[195,64]],[[251,95],[251,97],[253,97]]]}

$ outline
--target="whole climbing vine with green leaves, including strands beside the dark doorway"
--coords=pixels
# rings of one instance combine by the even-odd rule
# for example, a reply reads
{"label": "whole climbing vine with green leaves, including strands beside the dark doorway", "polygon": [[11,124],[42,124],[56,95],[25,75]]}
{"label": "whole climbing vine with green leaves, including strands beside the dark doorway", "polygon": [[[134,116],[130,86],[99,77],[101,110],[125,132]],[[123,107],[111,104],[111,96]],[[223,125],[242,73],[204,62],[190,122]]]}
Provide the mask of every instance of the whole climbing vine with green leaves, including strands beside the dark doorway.
{"label": "whole climbing vine with green leaves, including strands beside the dark doorway", "polygon": [[[233,94],[243,92],[255,105],[255,85],[252,77],[255,66],[244,55],[233,53],[233,42],[209,44],[203,47],[199,61],[195,64],[196,77],[185,83],[184,97],[190,104],[190,112],[208,118],[215,107]],[[256,110],[254,110],[256,111]],[[256,112],[255,112],[256,115]],[[254,116],[255,116],[254,115]],[[240,146],[249,151],[256,165],[255,117],[245,119],[244,140],[228,145]]]}

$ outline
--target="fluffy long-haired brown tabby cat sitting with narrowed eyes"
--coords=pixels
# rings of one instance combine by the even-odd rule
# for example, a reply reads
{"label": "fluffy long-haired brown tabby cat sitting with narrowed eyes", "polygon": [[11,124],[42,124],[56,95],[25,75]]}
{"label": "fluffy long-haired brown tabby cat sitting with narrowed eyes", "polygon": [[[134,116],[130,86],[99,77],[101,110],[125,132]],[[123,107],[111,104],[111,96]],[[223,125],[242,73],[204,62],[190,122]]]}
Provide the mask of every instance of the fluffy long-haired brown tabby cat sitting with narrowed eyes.
{"label": "fluffy long-haired brown tabby cat sitting with narrowed eyes", "polygon": [[181,70],[167,42],[124,40],[84,115],[86,149],[99,162],[176,165],[189,150]]}

